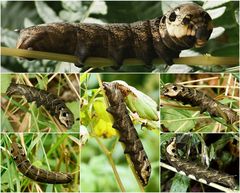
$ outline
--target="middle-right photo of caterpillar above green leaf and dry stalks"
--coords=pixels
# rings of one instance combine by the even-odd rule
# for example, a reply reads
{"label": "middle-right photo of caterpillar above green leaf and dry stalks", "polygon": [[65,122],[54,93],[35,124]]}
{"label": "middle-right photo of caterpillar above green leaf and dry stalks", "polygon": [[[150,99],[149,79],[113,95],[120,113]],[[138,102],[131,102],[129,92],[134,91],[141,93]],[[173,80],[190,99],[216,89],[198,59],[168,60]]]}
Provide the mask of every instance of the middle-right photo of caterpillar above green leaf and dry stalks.
{"label": "middle-right photo of caterpillar above green leaf and dry stalks", "polygon": [[237,132],[238,74],[161,74],[162,132]]}

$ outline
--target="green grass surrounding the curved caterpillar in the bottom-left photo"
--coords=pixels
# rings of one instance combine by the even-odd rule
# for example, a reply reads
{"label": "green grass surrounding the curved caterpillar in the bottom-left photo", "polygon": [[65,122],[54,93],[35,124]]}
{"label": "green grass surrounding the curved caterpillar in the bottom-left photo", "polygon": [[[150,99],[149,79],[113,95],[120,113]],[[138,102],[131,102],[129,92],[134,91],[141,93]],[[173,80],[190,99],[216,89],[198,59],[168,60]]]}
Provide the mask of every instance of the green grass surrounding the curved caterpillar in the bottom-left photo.
{"label": "green grass surrounding the curved caterpillar in the bottom-left photo", "polygon": [[[71,134],[71,137],[78,137]],[[71,140],[67,134],[1,134],[1,192],[68,192],[78,191],[79,146]],[[11,140],[16,139],[20,143],[23,139],[27,157],[36,167],[51,170],[74,173],[74,181],[71,184],[52,185],[37,183],[21,174],[10,155]],[[21,143],[20,143],[21,144]]]}

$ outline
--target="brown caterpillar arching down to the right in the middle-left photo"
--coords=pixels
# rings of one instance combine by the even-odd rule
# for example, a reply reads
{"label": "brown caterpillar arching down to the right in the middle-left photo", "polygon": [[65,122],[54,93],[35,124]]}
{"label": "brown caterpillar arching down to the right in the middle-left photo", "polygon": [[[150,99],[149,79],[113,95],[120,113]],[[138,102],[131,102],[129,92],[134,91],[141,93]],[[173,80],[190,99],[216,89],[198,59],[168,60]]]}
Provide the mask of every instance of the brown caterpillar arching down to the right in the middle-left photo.
{"label": "brown caterpillar arching down to the right in the middle-left photo", "polygon": [[70,129],[74,124],[74,115],[64,101],[56,95],[24,84],[11,83],[7,95],[23,95],[28,102],[36,101],[37,107],[43,105],[61,124]]}

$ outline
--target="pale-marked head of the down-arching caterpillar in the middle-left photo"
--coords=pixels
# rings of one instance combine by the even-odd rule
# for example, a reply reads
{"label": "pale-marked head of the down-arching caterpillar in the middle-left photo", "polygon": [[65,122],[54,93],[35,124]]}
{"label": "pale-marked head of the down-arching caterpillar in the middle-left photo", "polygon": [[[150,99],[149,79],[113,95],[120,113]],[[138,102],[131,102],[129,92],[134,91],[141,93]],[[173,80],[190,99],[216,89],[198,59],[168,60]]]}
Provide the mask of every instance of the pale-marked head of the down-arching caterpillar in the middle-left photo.
{"label": "pale-marked head of the down-arching caterpillar in the middle-left photo", "polygon": [[58,114],[59,121],[67,128],[71,129],[72,125],[74,124],[74,115],[68,109],[61,107]]}

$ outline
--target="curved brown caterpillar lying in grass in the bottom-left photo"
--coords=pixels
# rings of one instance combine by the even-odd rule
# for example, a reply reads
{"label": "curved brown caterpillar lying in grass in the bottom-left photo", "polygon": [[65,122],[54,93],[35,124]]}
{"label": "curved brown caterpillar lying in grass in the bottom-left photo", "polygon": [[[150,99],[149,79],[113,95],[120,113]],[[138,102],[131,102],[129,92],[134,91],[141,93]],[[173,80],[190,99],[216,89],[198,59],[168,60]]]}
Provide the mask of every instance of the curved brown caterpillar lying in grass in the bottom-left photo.
{"label": "curved brown caterpillar lying in grass in the bottom-left photo", "polygon": [[48,184],[66,184],[73,180],[71,174],[51,172],[33,166],[27,159],[23,148],[15,142],[12,143],[11,154],[18,170],[32,180]]}

